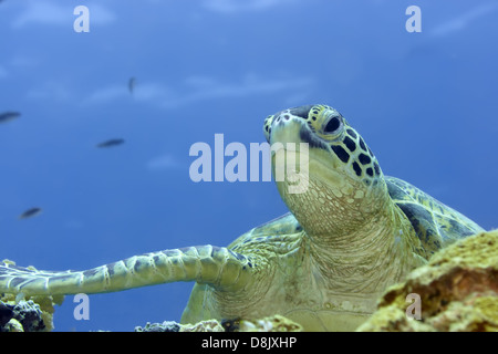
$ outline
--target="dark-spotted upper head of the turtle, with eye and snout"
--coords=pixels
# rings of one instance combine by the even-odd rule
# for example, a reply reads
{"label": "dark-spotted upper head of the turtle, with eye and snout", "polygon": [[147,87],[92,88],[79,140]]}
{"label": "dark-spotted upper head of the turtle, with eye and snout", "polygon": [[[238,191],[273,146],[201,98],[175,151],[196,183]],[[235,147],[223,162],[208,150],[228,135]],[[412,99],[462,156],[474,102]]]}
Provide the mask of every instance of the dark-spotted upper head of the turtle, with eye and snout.
{"label": "dark-spotted upper head of the turtle, with eye and snout", "polygon": [[344,168],[365,185],[375,185],[382,177],[375,155],[336,110],[326,105],[305,105],[269,115],[263,125],[268,143],[272,126],[289,119],[304,121],[309,129],[301,129],[301,138],[308,142],[311,148],[328,149],[330,154],[335,155]]}

